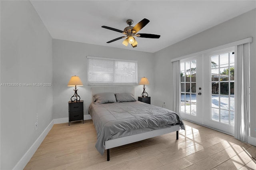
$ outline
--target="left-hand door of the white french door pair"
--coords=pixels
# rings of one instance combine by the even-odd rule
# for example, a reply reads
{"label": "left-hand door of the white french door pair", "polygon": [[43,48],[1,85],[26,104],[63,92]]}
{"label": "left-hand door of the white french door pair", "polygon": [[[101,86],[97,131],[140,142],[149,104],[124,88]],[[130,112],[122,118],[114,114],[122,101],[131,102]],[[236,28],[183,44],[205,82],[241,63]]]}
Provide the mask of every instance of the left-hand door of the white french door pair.
{"label": "left-hand door of the white french door pair", "polygon": [[180,61],[180,116],[202,124],[202,56]]}

